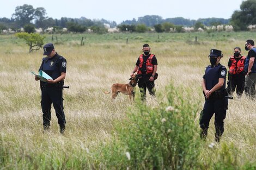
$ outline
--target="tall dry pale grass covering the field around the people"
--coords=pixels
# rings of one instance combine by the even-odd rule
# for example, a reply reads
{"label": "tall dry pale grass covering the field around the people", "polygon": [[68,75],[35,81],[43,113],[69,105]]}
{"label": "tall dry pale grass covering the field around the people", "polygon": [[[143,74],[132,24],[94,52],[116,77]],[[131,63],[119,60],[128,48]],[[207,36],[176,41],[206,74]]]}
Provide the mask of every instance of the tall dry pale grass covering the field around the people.
{"label": "tall dry pale grass covering the field around the people", "polygon": [[[59,134],[57,118],[52,109],[50,132],[42,133],[42,113],[40,108],[39,82],[34,80],[30,71],[37,71],[42,51],[27,53],[27,46],[17,41],[16,45],[1,42],[0,45],[0,129],[2,146],[8,153],[6,158],[13,160],[7,169],[19,169],[20,160],[29,156],[39,156],[50,160],[55,156],[65,161],[63,155],[73,155],[78,160],[88,148],[97,149],[98,144],[107,142],[114,130],[115,121],[125,121],[126,111],[133,108],[129,97],[120,94],[114,102],[103,91],[109,90],[114,83],[128,83],[130,72],[135,66],[142,45],[133,43],[92,43],[86,46],[56,44],[56,51],[67,60],[64,90],[64,112],[66,115],[65,135]],[[159,78],[155,81],[157,98],[148,98],[147,105],[158,106],[164,102],[166,85],[184,87],[179,91],[183,98],[198,105],[195,123],[198,124],[199,111],[204,98],[200,87],[205,67],[209,65],[208,55],[211,48],[220,49],[224,57],[221,64],[227,67],[229,56],[236,46],[243,47],[244,41],[204,41],[199,44],[185,41],[148,42],[151,52],[158,61]],[[246,54],[245,51],[242,51]],[[136,87],[138,88],[138,87]],[[138,90],[138,89],[137,89]],[[255,101],[246,97],[229,100],[222,141],[233,143],[239,150],[237,160],[241,163],[256,161],[256,112]],[[212,118],[214,119],[214,117]],[[199,125],[198,125],[199,126]],[[215,150],[208,148],[214,141],[214,124],[211,121],[209,136],[201,159],[217,161],[221,145]],[[81,153],[79,153],[79,152]],[[78,153],[77,153],[78,152]],[[2,155],[4,156],[4,155]],[[16,158],[16,159],[15,159]],[[40,159],[38,158],[38,159]],[[82,160],[81,160],[82,161]],[[86,161],[86,160],[84,160]],[[42,161],[43,162],[43,161]],[[47,162],[47,161],[46,161]],[[58,162],[55,162],[58,166]],[[47,167],[45,165],[45,167]],[[27,169],[24,165],[24,168]]]}

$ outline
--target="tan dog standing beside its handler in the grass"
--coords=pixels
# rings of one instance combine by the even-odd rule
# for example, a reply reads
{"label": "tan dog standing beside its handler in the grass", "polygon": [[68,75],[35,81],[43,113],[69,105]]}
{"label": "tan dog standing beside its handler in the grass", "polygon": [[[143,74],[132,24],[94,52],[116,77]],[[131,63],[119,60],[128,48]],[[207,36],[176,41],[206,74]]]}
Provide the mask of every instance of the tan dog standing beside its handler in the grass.
{"label": "tan dog standing beside its handler in the grass", "polygon": [[124,95],[129,95],[130,100],[133,97],[135,97],[135,92],[133,91],[133,88],[137,85],[137,75],[133,75],[133,77],[131,77],[129,80],[130,83],[127,84],[119,84],[119,83],[115,83],[111,86],[111,90],[110,91],[105,91],[106,94],[109,94],[110,92],[112,93],[112,99],[115,99],[118,95],[118,93],[123,93]]}

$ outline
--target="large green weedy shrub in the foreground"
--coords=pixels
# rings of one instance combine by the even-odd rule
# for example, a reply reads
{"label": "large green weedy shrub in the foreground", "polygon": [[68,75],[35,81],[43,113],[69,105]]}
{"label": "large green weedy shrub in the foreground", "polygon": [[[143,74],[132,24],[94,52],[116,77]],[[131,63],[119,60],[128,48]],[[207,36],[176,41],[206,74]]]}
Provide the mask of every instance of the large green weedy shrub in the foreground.
{"label": "large green weedy shrub in the foreground", "polygon": [[[193,169],[197,166],[196,107],[176,96],[172,86],[169,90],[168,103],[157,108],[136,103],[136,109],[128,112],[127,119],[118,125],[119,135],[111,146],[113,149],[102,151],[104,158],[109,160],[114,156],[117,165],[122,161],[123,168],[131,169]],[[109,161],[105,163],[108,167]],[[111,166],[114,166],[113,160]]]}

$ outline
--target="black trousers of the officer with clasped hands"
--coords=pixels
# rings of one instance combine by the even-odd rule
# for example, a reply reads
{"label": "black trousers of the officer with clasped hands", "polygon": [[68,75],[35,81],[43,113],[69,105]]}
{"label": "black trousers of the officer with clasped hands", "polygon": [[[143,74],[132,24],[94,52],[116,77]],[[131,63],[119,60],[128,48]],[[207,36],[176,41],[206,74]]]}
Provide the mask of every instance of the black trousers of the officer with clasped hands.
{"label": "black trousers of the officer with clasped hands", "polygon": [[220,141],[224,132],[224,119],[228,109],[228,99],[206,99],[204,109],[200,113],[201,138],[205,138],[208,134],[209,123],[211,117],[215,114],[215,140]]}

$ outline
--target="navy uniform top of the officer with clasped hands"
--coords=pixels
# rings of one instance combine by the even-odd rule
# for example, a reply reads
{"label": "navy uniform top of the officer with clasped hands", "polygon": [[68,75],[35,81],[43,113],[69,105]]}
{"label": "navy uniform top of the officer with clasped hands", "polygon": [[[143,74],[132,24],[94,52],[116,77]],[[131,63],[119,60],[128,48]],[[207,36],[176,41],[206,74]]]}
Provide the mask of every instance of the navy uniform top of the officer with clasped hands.
{"label": "navy uniform top of the officer with clasped hands", "polygon": [[212,87],[214,87],[218,83],[219,78],[224,79],[224,84],[221,87],[221,89],[218,89],[218,90],[225,90],[226,74],[227,74],[227,69],[225,68],[225,66],[221,65],[220,63],[215,67],[211,67],[211,66],[206,67],[205,74],[203,76],[203,79],[205,79],[206,90],[211,90]]}

